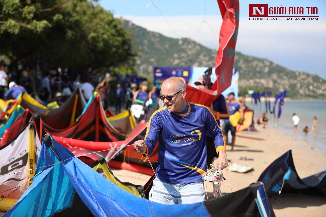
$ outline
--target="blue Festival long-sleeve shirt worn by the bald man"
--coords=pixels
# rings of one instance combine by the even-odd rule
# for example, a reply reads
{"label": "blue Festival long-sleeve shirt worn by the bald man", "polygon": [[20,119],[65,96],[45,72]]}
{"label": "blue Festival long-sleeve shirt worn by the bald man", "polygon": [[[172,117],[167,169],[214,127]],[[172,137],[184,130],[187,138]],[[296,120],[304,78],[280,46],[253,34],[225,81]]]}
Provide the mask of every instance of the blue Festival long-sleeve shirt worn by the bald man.
{"label": "blue Festival long-sleeve shirt worn by the bald man", "polygon": [[206,171],[206,130],[213,135],[216,152],[226,151],[223,134],[213,113],[205,106],[187,102],[185,114],[163,107],[153,113],[145,136],[146,153],[159,144],[157,177],[168,183],[200,182]]}

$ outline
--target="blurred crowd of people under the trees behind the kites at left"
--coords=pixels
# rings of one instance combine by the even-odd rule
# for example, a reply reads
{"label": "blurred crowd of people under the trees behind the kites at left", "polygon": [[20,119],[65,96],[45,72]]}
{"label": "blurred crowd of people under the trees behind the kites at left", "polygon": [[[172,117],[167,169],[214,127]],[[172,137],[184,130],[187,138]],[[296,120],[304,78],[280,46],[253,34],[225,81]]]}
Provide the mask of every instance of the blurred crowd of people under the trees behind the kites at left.
{"label": "blurred crowd of people under the trees behind the kites at left", "polygon": [[29,66],[21,70],[14,69],[1,61],[0,98],[15,99],[20,93],[26,92],[32,96],[37,94],[45,105],[57,102],[61,106],[76,88],[81,88],[86,101],[92,97],[94,91],[100,95],[104,108],[108,108],[110,101],[114,101],[115,113],[130,109],[135,101],[145,104],[150,100],[150,104],[154,104],[158,99],[156,86],[152,86],[149,91],[146,80],[139,85],[131,82],[124,84],[118,80],[116,87],[111,89],[110,74],[83,71],[71,78],[67,72],[47,69],[42,77],[35,71]]}

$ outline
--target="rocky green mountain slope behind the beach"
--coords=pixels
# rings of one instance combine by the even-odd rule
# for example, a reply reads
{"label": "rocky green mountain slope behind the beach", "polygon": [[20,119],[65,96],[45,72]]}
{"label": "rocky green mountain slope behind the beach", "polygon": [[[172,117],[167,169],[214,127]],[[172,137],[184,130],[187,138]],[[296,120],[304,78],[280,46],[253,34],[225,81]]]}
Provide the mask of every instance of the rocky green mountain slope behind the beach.
{"label": "rocky green mountain slope behind the beach", "polygon": [[[133,44],[137,47],[137,69],[153,78],[154,66],[214,66],[216,50],[206,48],[190,39],[174,39],[151,32],[129,21]],[[315,74],[291,71],[275,62],[236,52],[234,68],[239,70],[239,91],[287,90],[293,98],[326,98],[326,80]]]}

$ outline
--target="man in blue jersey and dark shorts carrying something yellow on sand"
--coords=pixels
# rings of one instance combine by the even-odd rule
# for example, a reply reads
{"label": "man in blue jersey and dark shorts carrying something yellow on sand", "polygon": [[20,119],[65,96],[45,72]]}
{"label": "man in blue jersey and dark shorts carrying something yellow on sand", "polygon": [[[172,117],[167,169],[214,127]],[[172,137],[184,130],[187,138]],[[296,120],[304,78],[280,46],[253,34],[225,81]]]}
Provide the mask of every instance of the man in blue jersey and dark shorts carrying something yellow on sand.
{"label": "man in blue jersey and dark shorts carrying something yellow on sand", "polygon": [[[238,100],[234,99],[234,93],[231,92],[228,97],[228,107],[229,107],[229,113],[230,117],[231,115],[234,115],[237,111],[240,112],[240,121],[239,123],[242,123],[244,120],[244,112],[241,106],[241,103]],[[235,129],[236,126],[232,126],[230,119],[224,121],[223,125],[223,135],[224,135],[224,140],[228,141],[228,132],[229,130],[231,131],[232,135],[232,142],[231,142],[231,151],[233,151],[234,143],[235,143]]]}

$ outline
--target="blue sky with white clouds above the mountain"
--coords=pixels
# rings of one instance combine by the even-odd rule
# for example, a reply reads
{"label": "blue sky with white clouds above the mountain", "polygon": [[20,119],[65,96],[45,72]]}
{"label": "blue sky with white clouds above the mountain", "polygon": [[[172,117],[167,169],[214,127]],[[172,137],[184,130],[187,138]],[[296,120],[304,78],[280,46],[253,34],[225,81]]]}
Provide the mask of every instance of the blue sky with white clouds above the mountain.
{"label": "blue sky with white clouds above the mountain", "polygon": [[[215,0],[100,0],[98,4],[150,31],[173,38],[190,37],[211,49],[218,46],[222,20]],[[249,21],[249,4],[318,7],[319,20]],[[204,19],[206,23],[202,23]],[[326,79],[325,38],[326,0],[240,1],[236,50],[246,55],[269,59],[291,70],[315,72]]]}

